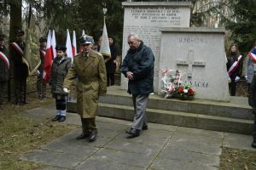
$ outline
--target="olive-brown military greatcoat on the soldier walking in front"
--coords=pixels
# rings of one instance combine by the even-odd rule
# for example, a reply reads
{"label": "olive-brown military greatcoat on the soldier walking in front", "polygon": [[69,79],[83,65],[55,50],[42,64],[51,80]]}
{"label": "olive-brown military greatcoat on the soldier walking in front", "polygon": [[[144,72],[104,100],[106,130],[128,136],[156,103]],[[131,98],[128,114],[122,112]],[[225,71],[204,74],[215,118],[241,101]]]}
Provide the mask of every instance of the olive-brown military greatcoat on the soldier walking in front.
{"label": "olive-brown military greatcoat on the soldier walking in front", "polygon": [[90,51],[86,57],[84,53],[75,56],[64,87],[69,88],[77,78],[77,111],[82,118],[93,118],[96,116],[99,95],[107,93],[106,68],[102,54]]}

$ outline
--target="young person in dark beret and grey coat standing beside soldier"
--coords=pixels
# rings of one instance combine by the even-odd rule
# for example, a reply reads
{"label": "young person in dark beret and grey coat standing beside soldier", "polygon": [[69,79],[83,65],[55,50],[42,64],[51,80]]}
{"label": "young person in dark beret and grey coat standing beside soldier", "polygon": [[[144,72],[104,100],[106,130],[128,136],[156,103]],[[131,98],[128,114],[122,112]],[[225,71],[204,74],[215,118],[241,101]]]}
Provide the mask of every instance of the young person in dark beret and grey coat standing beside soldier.
{"label": "young person in dark beret and grey coat standing beside soldier", "polygon": [[67,58],[66,47],[56,47],[57,56],[55,57],[50,70],[49,84],[51,93],[55,98],[56,114],[53,122],[64,122],[66,120],[66,100],[67,93],[63,91],[63,82],[67,76],[67,71],[71,66],[71,59]]}

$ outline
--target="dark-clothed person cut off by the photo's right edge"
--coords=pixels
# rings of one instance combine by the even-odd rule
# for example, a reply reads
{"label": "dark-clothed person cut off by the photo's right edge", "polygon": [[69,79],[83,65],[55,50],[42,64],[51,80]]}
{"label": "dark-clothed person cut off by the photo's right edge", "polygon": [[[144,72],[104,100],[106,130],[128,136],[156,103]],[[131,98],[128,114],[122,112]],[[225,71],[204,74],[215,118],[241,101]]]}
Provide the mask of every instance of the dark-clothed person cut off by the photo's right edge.
{"label": "dark-clothed person cut off by the photo's right edge", "polygon": [[256,148],[256,65],[254,65],[253,80],[250,84],[248,103],[253,107],[254,123],[253,123],[253,143],[252,147]]}

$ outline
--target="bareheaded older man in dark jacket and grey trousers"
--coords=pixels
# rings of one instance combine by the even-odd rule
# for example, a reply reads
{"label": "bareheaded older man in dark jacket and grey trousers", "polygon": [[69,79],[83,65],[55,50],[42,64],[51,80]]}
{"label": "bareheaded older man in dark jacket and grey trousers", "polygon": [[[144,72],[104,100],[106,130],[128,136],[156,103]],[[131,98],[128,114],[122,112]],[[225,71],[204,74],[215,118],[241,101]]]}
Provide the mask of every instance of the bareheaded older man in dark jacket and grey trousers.
{"label": "bareheaded older man in dark jacket and grey trousers", "polygon": [[148,129],[146,107],[148,95],[154,91],[154,54],[136,34],[128,36],[128,50],[121,71],[129,79],[128,93],[132,94],[135,116],[128,138],[137,137]]}

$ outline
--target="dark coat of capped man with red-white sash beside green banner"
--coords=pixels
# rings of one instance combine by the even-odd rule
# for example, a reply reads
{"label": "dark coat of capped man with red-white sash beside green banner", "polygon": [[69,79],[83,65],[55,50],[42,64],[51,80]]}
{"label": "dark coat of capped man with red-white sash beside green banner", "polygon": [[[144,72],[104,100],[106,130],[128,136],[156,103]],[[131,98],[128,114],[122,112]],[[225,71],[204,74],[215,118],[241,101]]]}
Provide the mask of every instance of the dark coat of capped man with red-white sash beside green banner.
{"label": "dark coat of capped man with red-white sash beside green banner", "polygon": [[[19,47],[23,50],[25,48],[25,42],[16,42]],[[28,68],[25,63],[22,63],[22,55],[20,55],[16,49],[11,45],[12,50],[10,50],[10,57],[14,61],[14,76],[15,77],[27,77]]]}

